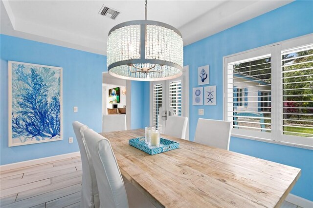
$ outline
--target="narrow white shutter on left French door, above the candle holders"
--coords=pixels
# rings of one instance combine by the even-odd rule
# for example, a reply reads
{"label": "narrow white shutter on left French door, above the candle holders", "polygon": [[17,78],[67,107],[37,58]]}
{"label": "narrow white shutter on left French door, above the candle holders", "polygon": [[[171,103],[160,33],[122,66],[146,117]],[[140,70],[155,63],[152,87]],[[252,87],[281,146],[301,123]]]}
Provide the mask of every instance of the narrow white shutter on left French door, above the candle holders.
{"label": "narrow white shutter on left French door, above the candle holders", "polygon": [[153,85],[153,126],[159,127],[159,108],[162,107],[162,84]]}

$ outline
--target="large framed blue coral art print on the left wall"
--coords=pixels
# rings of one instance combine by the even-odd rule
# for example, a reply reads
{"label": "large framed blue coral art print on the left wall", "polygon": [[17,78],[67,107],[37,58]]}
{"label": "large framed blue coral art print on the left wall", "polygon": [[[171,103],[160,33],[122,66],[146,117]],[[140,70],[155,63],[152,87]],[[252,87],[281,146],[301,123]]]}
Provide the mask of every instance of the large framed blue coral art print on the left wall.
{"label": "large framed blue coral art print on the left wall", "polygon": [[9,147],[63,139],[62,68],[9,61]]}

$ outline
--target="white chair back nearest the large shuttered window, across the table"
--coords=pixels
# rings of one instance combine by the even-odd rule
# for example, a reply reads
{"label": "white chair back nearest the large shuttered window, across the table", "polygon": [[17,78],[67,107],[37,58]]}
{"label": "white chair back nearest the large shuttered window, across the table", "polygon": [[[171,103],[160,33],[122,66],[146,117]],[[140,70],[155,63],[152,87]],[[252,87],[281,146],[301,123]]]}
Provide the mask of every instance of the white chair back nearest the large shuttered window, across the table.
{"label": "white chair back nearest the large shuttered window, across the table", "polygon": [[199,118],[195,142],[229,150],[231,122]]}

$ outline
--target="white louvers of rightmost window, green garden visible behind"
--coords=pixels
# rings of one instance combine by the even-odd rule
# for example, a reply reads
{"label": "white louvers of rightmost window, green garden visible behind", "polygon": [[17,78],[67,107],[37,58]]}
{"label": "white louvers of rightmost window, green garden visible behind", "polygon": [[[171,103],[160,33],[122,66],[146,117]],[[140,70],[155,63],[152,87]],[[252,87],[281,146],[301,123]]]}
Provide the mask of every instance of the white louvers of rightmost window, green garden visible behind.
{"label": "white louvers of rightmost window, green garden visible behind", "polygon": [[313,136],[313,45],[282,51],[281,131]]}

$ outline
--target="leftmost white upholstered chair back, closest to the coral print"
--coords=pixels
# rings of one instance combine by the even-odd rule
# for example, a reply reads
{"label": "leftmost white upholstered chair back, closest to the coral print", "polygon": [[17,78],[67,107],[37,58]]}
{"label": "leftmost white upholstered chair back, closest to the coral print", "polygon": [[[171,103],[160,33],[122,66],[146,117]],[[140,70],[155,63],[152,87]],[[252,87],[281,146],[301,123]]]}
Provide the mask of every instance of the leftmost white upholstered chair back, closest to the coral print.
{"label": "leftmost white upholstered chair back, closest to the coral print", "polygon": [[82,196],[81,207],[82,208],[94,208],[99,207],[99,195],[96,176],[93,170],[92,161],[89,150],[84,138],[84,131],[88,129],[88,126],[78,122],[73,122],[73,129],[76,135],[79,151],[82,159]]}

